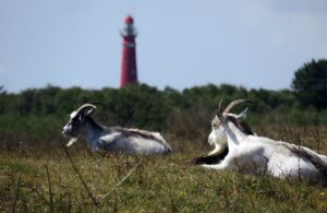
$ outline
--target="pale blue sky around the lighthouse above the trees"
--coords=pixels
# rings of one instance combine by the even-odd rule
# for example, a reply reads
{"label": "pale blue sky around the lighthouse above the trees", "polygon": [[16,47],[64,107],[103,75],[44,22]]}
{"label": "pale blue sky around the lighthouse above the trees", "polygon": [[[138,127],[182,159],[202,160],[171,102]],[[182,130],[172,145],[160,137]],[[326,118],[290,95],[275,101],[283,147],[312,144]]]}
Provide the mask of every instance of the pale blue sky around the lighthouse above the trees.
{"label": "pale blue sky around the lighthouse above the trees", "polygon": [[326,0],[0,0],[0,85],[119,87],[126,14],[138,79],[159,88],[288,88],[327,58]]}

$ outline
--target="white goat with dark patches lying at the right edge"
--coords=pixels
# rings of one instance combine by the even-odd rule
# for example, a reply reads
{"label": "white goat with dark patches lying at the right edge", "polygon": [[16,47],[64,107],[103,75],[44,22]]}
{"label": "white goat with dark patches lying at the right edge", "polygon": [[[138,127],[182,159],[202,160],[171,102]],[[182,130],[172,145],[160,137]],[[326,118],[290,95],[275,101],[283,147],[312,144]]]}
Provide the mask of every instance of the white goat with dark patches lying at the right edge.
{"label": "white goat with dark patches lying at the right edge", "polygon": [[280,178],[301,178],[327,185],[327,156],[294,144],[254,135],[229,111],[244,99],[232,102],[222,113],[220,105],[211,121],[209,143],[219,149],[195,164],[215,169],[233,169],[245,174],[268,173]]}

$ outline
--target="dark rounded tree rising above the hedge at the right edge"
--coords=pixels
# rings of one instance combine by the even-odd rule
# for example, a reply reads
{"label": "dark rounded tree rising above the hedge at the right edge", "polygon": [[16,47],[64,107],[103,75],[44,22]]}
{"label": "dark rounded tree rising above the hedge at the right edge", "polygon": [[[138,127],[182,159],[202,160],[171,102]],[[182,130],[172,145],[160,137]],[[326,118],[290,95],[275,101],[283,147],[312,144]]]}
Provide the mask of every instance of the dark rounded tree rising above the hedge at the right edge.
{"label": "dark rounded tree rising above the hedge at the right edge", "polygon": [[303,106],[327,109],[327,60],[312,60],[294,73],[291,87]]}

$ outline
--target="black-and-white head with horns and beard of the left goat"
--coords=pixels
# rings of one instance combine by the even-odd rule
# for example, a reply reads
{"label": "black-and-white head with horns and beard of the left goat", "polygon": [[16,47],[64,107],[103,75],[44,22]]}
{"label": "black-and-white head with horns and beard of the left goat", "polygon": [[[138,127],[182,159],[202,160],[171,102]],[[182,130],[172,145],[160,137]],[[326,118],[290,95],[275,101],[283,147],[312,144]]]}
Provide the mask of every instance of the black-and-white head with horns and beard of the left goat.
{"label": "black-and-white head with horns and beard of the left goat", "polygon": [[96,109],[93,104],[84,104],[76,111],[71,113],[69,122],[63,127],[62,135],[71,138],[66,144],[72,145],[76,141],[76,137],[85,128],[85,118],[90,116]]}

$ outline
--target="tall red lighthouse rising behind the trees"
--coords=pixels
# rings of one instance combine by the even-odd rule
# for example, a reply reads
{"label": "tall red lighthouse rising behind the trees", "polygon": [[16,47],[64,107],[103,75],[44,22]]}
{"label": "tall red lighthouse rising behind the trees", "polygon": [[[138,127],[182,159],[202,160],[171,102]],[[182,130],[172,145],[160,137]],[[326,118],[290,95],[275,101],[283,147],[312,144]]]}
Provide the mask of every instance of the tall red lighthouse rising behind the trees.
{"label": "tall red lighthouse rising behind the trees", "polygon": [[129,83],[137,83],[136,29],[134,27],[134,20],[130,15],[124,20],[124,28],[121,32],[121,36],[123,37],[123,50],[120,87],[124,87]]}

